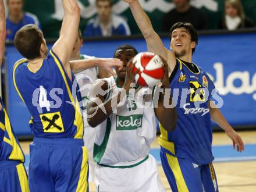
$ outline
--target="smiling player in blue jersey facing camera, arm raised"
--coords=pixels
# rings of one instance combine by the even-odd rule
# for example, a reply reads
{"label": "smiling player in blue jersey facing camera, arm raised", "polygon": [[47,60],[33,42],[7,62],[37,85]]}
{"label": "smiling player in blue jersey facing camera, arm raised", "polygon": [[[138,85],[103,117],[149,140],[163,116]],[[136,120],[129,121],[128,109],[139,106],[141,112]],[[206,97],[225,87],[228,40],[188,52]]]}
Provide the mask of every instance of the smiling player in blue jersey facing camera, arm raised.
{"label": "smiling player in blue jersey facing camera, arm raised", "polygon": [[[197,32],[190,23],[175,23],[170,29],[170,49],[163,46],[150,19],[137,0],[123,0],[147,41],[148,51],[161,55],[172,72],[170,88],[179,90],[177,125],[174,131],[161,127],[159,144],[163,170],[173,191],[218,191],[212,161],[212,124],[214,120],[233,141],[233,148],[244,150],[243,140],[211,102],[214,83],[200,67],[192,63]],[[183,90],[187,94],[183,94]],[[209,97],[207,94],[209,93]],[[173,94],[175,95],[175,94]],[[198,107],[200,106],[200,107]]]}

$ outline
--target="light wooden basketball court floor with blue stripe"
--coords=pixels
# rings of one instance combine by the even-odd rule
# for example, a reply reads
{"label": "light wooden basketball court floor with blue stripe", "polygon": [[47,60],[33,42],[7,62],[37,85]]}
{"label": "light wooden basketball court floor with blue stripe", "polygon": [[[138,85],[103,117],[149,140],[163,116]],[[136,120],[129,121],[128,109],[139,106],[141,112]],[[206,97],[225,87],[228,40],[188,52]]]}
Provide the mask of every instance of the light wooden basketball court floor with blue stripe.
{"label": "light wooden basketball court floor with blue stripe", "polygon": [[[225,133],[214,133],[212,152],[220,192],[256,191],[256,131],[240,131],[239,134],[245,144],[245,150],[241,153],[233,150],[232,141]],[[26,154],[26,168],[29,165],[29,143],[30,141],[20,142]],[[171,191],[161,166],[157,140],[152,143],[150,154],[159,163],[159,174],[166,192]],[[93,183],[90,183],[90,191],[96,191]]]}

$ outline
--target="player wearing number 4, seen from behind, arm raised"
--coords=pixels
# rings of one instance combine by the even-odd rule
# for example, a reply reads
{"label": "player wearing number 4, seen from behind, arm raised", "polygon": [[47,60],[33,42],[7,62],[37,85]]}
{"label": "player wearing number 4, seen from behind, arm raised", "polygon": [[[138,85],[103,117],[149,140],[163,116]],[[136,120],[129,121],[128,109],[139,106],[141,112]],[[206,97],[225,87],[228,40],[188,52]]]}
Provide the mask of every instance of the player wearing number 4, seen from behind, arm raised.
{"label": "player wearing number 4, seen from behind, arm raised", "polygon": [[81,95],[78,86],[73,90],[74,75],[69,63],[80,8],[77,0],[62,0],[62,5],[65,15],[61,34],[49,54],[37,26],[24,26],[15,35],[15,47],[26,58],[13,67],[13,83],[31,114],[34,141],[30,145],[29,188],[32,192],[88,191],[88,150],[83,146]]}

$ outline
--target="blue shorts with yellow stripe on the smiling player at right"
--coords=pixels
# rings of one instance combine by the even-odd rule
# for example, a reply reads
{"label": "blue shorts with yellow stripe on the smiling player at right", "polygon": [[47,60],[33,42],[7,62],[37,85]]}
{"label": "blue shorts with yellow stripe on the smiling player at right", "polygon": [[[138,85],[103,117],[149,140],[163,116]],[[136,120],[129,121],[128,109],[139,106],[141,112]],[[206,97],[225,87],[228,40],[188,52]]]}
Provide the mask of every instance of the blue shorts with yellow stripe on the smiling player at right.
{"label": "blue shorts with yellow stripe on the smiling player at right", "polygon": [[177,158],[161,147],[163,171],[173,192],[217,192],[218,184],[212,163],[197,165],[188,159]]}

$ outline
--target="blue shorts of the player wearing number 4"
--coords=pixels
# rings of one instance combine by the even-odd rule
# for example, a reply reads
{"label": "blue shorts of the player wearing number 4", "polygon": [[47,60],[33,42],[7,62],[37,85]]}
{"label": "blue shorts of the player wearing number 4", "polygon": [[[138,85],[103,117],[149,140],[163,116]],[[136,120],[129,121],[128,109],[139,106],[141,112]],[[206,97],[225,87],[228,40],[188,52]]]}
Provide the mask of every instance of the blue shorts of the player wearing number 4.
{"label": "blue shorts of the player wearing number 4", "polygon": [[88,191],[88,150],[83,140],[34,138],[30,144],[29,189]]}

